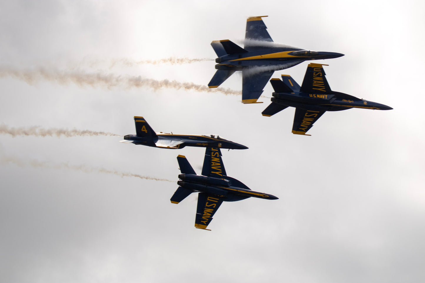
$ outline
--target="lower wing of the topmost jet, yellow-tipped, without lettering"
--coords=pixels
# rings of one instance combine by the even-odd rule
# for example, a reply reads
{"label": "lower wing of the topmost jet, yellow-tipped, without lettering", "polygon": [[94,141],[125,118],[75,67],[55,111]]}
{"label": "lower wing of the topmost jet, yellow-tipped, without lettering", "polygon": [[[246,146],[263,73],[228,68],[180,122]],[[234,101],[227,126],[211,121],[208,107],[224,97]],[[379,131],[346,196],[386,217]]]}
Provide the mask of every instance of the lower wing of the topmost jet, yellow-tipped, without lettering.
{"label": "lower wing of the topmost jet, yellow-tipped, without lettering", "polygon": [[252,72],[252,70],[246,69],[242,71],[242,102],[262,103],[257,102],[257,99],[263,93],[263,88],[269,82],[274,71],[262,72],[255,75],[250,75],[249,72]]}

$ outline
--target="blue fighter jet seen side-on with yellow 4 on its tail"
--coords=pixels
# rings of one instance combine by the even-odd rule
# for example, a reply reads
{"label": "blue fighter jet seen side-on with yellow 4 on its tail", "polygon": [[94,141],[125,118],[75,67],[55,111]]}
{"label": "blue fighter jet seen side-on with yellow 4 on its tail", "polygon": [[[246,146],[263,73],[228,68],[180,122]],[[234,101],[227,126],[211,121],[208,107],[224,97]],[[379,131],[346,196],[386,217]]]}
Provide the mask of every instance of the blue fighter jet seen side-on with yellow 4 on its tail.
{"label": "blue fighter jet seen side-on with yellow 4 on its tail", "polygon": [[126,135],[124,140],[127,144],[142,144],[149,147],[178,149],[190,147],[220,147],[226,149],[247,149],[248,147],[238,144],[215,134],[208,135],[175,135],[173,133],[154,132],[146,120],[140,116],[134,116],[136,135]]}

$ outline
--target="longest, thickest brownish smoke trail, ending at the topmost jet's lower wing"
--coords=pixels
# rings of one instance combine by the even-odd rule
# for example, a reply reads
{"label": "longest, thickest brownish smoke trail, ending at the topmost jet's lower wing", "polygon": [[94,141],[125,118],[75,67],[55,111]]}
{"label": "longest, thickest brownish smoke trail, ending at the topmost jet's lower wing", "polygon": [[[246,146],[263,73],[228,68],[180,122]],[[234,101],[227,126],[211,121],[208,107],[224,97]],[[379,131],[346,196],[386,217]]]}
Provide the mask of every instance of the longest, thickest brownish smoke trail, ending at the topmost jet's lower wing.
{"label": "longest, thickest brownish smoke trail, ending at the topmost jet's lower wing", "polygon": [[168,79],[156,80],[143,78],[142,76],[116,76],[113,74],[85,73],[84,71],[58,71],[39,68],[36,70],[18,71],[14,69],[0,68],[0,78],[13,77],[34,85],[40,81],[56,82],[60,85],[74,83],[79,87],[105,87],[108,89],[124,86],[126,88],[152,88],[157,91],[162,88],[176,90],[193,90],[199,92],[219,92],[225,95],[240,95],[241,91],[229,88],[211,89],[206,85],[198,85],[193,82],[177,82]]}

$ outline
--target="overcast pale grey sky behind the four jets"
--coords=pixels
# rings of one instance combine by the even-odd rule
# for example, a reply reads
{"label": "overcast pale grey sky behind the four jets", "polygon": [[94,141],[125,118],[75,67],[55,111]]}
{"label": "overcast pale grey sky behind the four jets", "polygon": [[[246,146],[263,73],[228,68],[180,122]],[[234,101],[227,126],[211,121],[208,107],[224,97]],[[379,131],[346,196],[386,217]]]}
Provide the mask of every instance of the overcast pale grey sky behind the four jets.
{"label": "overcast pale grey sky behind the four jets", "polygon": [[[144,116],[156,131],[217,133],[249,147],[222,151],[227,174],[279,200],[226,202],[203,231],[195,194],[170,203],[177,155],[200,174],[203,148],[0,134],[0,281],[423,282],[424,11],[414,0],[1,1],[3,127],[123,136]],[[345,54],[317,61],[332,90],[394,110],[325,113],[299,136],[293,108],[261,116],[268,98],[129,83],[207,85],[210,42],[242,45],[260,15],[275,42]],[[170,57],[212,60],[145,62]],[[307,65],[273,77],[301,84]]]}

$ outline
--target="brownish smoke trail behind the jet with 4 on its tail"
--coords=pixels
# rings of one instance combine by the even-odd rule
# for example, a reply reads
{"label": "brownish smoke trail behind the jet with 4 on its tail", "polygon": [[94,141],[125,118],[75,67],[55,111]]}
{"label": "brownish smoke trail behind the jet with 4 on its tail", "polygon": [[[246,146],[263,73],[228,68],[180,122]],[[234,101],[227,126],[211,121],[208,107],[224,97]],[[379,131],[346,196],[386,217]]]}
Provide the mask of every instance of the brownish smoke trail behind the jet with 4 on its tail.
{"label": "brownish smoke trail behind the jet with 4 on its tail", "polygon": [[13,138],[16,136],[56,136],[56,137],[73,137],[73,136],[120,136],[114,133],[108,132],[96,132],[91,130],[68,130],[59,128],[47,128],[44,129],[40,126],[29,126],[29,127],[9,127],[2,123],[0,124],[0,134],[11,135]]}

